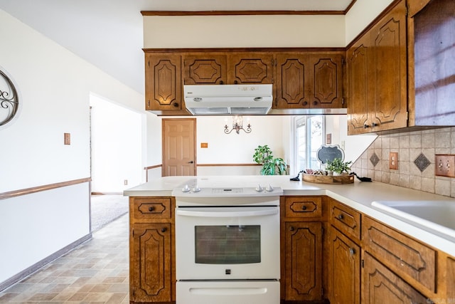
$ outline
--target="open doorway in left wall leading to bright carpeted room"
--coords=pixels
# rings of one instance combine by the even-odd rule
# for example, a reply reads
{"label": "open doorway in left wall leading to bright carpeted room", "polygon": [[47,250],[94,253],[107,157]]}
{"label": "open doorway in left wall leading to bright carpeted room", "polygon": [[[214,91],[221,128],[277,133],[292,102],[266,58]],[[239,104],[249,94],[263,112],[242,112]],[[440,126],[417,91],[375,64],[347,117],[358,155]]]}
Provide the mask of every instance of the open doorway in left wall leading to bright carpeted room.
{"label": "open doorway in left wall leading to bright carpeted room", "polygon": [[142,182],[141,114],[90,94],[90,230],[128,212],[124,189]]}

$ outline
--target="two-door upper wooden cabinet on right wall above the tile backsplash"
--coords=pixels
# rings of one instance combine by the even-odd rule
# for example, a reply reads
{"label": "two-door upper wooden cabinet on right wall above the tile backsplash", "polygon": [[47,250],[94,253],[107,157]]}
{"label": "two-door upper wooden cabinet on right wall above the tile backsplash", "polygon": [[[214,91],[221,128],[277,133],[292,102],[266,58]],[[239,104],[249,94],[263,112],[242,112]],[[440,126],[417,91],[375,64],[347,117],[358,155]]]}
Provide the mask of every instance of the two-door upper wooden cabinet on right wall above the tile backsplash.
{"label": "two-door upper wooden cabinet on right wall above the tile backsplash", "polygon": [[349,135],[407,127],[406,33],[402,0],[348,49]]}

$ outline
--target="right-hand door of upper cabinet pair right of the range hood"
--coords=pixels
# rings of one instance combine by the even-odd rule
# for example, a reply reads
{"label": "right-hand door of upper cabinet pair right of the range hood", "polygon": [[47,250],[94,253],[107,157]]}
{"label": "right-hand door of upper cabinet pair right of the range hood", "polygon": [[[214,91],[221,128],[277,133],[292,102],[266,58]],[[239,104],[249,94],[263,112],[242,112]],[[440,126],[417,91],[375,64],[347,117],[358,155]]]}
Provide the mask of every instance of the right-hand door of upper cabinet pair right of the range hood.
{"label": "right-hand door of upper cabinet pair right of the range hood", "polygon": [[311,55],[310,108],[343,108],[343,56]]}

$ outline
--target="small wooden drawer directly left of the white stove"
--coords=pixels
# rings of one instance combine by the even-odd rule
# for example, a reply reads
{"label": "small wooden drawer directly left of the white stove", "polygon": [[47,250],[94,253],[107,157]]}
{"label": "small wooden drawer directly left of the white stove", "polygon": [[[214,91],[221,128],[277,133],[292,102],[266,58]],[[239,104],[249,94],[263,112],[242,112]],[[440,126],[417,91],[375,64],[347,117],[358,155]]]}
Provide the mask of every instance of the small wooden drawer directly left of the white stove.
{"label": "small wooden drawer directly left of the white stove", "polygon": [[171,198],[132,197],[130,199],[132,219],[171,219]]}

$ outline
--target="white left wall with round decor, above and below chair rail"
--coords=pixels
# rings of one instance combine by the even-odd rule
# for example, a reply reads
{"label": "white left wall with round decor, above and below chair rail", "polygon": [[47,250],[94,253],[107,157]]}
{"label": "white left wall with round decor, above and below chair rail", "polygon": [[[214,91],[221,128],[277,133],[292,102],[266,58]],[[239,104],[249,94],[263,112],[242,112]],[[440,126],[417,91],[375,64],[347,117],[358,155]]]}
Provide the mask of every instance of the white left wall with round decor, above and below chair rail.
{"label": "white left wall with round decor, above and below chair rail", "polygon": [[[90,93],[138,111],[144,96],[1,10],[0,37],[22,103],[0,129],[0,193],[90,177]],[[0,200],[0,284],[90,234],[88,206],[88,183]]]}

